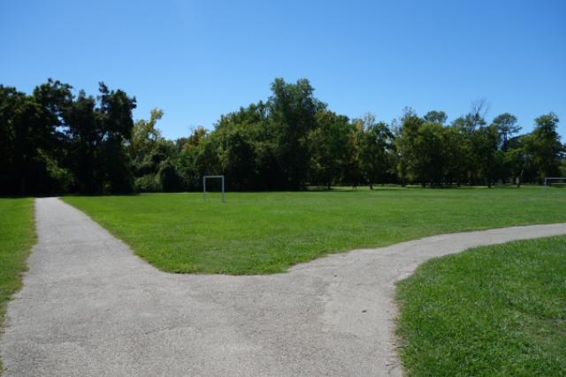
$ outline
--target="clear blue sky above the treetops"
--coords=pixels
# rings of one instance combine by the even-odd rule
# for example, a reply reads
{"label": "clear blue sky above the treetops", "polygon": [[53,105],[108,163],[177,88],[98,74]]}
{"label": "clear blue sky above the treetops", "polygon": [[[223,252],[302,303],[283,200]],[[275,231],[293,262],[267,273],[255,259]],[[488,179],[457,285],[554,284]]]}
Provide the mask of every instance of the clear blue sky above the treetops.
{"label": "clear blue sky above the treetops", "polygon": [[[164,109],[165,136],[213,127],[265,99],[276,77],[308,78],[351,118],[404,106],[449,119],[486,97],[488,118],[555,112],[566,137],[566,1],[4,1],[0,83],[52,77]],[[564,141],[564,140],[562,140]]]}

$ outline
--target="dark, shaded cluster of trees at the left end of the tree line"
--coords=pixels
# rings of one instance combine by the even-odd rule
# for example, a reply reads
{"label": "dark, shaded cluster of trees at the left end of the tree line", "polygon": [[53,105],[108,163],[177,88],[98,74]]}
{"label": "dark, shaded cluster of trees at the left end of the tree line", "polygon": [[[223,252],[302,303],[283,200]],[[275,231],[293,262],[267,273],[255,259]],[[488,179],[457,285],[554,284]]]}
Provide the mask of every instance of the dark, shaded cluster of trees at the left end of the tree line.
{"label": "dark, shaded cluster of trees at the left end of the tree line", "polygon": [[48,81],[27,96],[0,85],[0,190],[4,194],[128,192],[126,146],[135,99],[100,84],[99,96]]}

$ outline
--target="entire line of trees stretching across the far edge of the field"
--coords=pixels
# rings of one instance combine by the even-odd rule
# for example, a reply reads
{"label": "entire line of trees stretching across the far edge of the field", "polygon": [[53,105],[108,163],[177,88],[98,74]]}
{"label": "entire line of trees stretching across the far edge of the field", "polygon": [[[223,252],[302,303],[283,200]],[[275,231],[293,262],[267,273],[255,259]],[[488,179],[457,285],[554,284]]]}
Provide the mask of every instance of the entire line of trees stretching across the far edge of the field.
{"label": "entire line of trees stretching across the far edge of the field", "polygon": [[135,98],[103,83],[96,97],[53,80],[30,95],[0,85],[0,192],[197,190],[205,174],[226,175],[233,190],[491,187],[566,176],[552,112],[524,135],[510,113],[488,123],[485,101],[450,123],[445,112],[405,109],[387,124],[333,112],[305,79],[276,79],[271,88],[266,101],[222,115],[213,130],[167,140],[157,127],[163,111],[134,122]]}

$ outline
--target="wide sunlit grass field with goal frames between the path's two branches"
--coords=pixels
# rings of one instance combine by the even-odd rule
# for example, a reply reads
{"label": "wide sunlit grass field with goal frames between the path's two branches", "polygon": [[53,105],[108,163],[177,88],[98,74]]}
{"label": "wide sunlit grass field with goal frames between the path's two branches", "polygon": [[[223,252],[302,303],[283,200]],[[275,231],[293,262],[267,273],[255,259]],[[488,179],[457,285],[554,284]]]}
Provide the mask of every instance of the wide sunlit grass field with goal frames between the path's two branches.
{"label": "wide sunlit grass field with goal frames between the path's two branches", "polygon": [[142,258],[174,273],[279,273],[325,253],[490,227],[566,221],[561,188],[379,188],[68,196]]}

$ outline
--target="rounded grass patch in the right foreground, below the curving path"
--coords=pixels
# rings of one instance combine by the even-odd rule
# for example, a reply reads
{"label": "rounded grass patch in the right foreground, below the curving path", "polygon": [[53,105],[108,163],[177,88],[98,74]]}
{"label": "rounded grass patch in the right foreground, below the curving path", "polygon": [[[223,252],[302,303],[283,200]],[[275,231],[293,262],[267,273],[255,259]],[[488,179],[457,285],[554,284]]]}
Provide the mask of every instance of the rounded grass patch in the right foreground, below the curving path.
{"label": "rounded grass patch in the right foreground, below the curving path", "polygon": [[418,376],[566,371],[566,237],[433,259],[398,286],[402,363]]}

